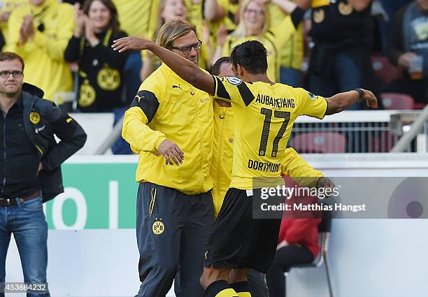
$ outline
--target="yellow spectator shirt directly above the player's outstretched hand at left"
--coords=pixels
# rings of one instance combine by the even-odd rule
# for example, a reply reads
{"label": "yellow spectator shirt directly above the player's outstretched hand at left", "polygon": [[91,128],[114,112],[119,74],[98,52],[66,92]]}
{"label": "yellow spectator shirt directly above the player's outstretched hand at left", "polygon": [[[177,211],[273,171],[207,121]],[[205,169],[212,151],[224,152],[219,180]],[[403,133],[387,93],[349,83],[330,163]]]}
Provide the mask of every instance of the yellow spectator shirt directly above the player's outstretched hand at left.
{"label": "yellow spectator shirt directly above the player's outstretched hand at left", "polygon": [[113,0],[113,3],[119,15],[120,29],[129,36],[153,35],[157,26],[159,0]]}

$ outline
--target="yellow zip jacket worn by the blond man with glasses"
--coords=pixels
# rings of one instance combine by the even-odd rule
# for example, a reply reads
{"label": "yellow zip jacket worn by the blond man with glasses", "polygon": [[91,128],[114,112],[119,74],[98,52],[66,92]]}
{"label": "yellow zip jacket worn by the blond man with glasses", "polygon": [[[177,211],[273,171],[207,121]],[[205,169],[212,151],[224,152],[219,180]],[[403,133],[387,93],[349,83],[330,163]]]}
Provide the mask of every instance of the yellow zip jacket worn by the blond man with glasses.
{"label": "yellow zip jacket worn by the blond man with glasses", "polygon": [[[152,182],[185,194],[213,188],[213,99],[162,64],[138,91],[124,115],[122,136],[140,155],[137,182]],[[163,140],[184,152],[180,166],[166,165],[155,152]]]}

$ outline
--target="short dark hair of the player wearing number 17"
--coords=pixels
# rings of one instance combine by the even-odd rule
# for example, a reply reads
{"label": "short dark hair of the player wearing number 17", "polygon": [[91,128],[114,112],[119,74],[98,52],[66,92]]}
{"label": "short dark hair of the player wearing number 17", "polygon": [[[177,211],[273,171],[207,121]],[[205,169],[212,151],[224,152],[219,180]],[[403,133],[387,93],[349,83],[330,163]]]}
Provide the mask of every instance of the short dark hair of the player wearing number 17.
{"label": "short dark hair of the player wearing number 17", "polygon": [[266,73],[267,50],[259,41],[245,41],[233,48],[230,61],[235,68],[239,64],[249,73]]}

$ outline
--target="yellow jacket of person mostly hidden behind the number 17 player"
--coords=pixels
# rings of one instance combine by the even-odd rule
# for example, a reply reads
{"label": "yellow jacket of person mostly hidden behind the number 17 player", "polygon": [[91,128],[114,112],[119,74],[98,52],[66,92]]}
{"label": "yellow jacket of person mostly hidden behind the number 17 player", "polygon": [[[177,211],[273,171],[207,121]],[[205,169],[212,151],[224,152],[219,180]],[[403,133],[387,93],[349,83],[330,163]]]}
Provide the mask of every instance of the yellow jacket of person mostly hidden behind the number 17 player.
{"label": "yellow jacket of person mostly hidden behind the number 17 player", "polygon": [[[233,108],[221,107],[214,100],[214,150],[211,164],[213,178],[213,202],[215,217],[222,207],[224,195],[231,182],[232,159],[234,154],[234,113]],[[285,150],[286,160],[281,170],[306,187],[315,187],[322,173],[312,168],[299,154],[289,147]]]}

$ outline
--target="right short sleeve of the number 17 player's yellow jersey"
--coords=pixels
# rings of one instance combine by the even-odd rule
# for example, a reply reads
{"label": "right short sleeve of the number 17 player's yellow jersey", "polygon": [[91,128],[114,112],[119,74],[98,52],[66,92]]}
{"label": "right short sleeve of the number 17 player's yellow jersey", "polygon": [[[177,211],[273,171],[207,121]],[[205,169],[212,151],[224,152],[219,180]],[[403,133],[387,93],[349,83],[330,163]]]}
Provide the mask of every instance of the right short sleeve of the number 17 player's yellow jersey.
{"label": "right short sleeve of the number 17 player's yellow jersey", "polygon": [[316,117],[323,119],[327,112],[327,100],[322,96],[316,96],[311,92],[302,88],[293,88],[294,98],[298,101],[299,115],[308,115],[309,117]]}

